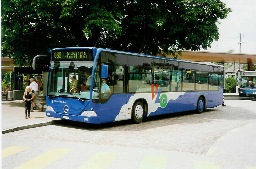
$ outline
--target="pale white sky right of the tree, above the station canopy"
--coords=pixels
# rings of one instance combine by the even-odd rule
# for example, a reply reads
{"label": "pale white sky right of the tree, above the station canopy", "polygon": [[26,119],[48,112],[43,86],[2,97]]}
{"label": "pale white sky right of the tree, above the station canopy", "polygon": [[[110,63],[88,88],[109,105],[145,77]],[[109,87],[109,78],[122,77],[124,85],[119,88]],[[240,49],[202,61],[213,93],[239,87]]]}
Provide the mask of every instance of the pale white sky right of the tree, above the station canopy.
{"label": "pale white sky right of the tree, above the station canopy", "polygon": [[211,48],[201,51],[239,53],[239,34],[241,53],[256,54],[256,0],[221,0],[232,9],[228,17],[219,20],[219,39],[213,41]]}

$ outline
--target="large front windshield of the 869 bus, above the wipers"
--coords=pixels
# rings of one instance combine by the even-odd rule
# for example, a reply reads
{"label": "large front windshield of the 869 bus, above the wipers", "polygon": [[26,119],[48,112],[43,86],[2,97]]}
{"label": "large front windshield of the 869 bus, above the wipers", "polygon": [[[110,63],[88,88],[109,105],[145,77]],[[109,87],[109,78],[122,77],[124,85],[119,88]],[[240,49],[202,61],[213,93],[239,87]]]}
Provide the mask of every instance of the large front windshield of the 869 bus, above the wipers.
{"label": "large front windshield of the 869 bus, above the wipers", "polygon": [[[51,96],[90,99],[93,62],[52,61],[48,91]],[[71,95],[71,93],[73,95]]]}

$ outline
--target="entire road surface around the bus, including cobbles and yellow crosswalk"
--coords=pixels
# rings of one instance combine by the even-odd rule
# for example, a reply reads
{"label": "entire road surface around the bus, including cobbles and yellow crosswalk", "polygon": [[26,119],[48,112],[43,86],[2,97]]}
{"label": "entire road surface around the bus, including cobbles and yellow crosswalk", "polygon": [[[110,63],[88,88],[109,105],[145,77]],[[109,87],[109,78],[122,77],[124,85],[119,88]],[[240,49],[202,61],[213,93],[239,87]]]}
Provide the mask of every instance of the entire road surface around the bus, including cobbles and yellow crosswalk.
{"label": "entire road surface around the bus, including cobbles and yellow crosswalk", "polygon": [[2,167],[256,168],[256,101],[226,99],[225,104],[141,124],[63,121],[6,133]]}

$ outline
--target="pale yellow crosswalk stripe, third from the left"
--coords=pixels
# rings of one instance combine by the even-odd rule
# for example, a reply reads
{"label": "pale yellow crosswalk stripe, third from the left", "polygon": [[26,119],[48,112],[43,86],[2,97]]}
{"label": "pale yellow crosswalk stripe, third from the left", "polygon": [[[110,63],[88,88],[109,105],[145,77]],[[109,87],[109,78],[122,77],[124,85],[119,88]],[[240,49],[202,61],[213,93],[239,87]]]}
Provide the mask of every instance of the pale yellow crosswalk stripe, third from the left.
{"label": "pale yellow crosswalk stripe, third from the left", "polygon": [[82,168],[106,168],[118,155],[118,153],[112,152],[99,152],[87,160],[83,165],[79,167]]}

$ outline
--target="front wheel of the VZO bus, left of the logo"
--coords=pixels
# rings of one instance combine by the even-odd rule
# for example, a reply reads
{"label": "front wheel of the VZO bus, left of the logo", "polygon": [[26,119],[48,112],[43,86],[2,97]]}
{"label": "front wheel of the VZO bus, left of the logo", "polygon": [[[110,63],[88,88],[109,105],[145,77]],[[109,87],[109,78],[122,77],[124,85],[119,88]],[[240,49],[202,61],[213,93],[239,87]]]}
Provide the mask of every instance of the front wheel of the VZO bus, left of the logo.
{"label": "front wheel of the VZO bus, left of the logo", "polygon": [[143,104],[140,101],[137,101],[133,107],[131,112],[131,120],[134,124],[138,124],[142,122],[142,119],[144,117],[144,107]]}

